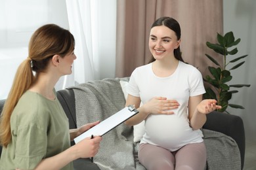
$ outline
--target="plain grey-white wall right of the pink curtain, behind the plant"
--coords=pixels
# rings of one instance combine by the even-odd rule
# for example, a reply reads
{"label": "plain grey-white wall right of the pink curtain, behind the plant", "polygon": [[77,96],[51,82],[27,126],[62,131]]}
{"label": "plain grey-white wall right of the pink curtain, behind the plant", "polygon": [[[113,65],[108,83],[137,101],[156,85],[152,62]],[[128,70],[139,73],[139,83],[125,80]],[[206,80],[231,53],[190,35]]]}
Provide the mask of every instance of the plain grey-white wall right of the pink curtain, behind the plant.
{"label": "plain grey-white wall right of the pink curtain, behind the plant", "polygon": [[224,0],[224,33],[233,31],[236,39],[240,38],[238,54],[248,54],[244,65],[232,70],[232,84],[251,84],[249,88],[237,88],[230,103],[242,105],[245,109],[228,109],[244,120],[247,139],[256,140],[256,1]]}

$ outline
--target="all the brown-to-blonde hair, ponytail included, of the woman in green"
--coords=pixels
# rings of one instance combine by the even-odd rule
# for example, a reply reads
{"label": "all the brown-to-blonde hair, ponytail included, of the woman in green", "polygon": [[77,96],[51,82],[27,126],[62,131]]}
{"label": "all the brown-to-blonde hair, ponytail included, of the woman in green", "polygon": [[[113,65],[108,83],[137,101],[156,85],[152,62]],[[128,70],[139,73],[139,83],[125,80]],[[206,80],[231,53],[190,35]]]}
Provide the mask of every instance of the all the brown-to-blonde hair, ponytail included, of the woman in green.
{"label": "all the brown-to-blonde hair, ponytail included, of the woman in green", "polygon": [[5,101],[0,118],[0,144],[7,147],[11,142],[11,114],[20,97],[32,86],[35,77],[33,72],[40,73],[47,69],[49,60],[55,54],[64,57],[72,52],[75,40],[70,31],[55,24],[39,27],[33,33],[29,44],[29,57],[16,71],[11,91]]}

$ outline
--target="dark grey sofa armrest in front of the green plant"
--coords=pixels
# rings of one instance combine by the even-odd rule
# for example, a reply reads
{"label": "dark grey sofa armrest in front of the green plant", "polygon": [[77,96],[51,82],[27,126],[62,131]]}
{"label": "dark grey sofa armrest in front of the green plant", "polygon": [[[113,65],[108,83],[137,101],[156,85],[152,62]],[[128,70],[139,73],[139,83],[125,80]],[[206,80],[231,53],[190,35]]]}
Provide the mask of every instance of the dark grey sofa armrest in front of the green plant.
{"label": "dark grey sofa armrest in front of the green plant", "polygon": [[240,116],[213,111],[207,114],[207,120],[203,125],[204,129],[219,131],[228,135],[236,141],[240,150],[241,165],[244,167],[245,155],[245,131],[244,122]]}

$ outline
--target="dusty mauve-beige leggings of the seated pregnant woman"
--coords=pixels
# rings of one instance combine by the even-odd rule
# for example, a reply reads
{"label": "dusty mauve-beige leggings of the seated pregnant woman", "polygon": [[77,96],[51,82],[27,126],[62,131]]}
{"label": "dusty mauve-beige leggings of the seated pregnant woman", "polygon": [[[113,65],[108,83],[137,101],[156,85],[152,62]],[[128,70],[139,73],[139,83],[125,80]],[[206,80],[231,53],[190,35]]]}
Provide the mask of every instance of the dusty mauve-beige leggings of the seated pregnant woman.
{"label": "dusty mauve-beige leggings of the seated pregnant woman", "polygon": [[144,143],[139,146],[138,156],[140,163],[147,170],[203,170],[206,164],[204,143],[186,144],[175,152]]}

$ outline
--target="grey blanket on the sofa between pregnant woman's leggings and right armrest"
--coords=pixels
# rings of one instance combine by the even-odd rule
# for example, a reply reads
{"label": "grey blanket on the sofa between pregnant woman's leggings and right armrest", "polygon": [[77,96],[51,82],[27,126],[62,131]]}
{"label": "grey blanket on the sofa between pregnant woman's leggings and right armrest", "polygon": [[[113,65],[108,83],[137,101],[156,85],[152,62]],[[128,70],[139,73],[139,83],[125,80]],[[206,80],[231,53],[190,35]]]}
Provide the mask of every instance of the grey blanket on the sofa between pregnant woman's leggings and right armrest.
{"label": "grey blanket on the sofa between pregnant woman's leggings and right armrest", "polygon": [[207,169],[241,169],[240,151],[236,141],[223,133],[203,129],[207,148]]}

